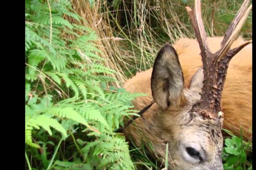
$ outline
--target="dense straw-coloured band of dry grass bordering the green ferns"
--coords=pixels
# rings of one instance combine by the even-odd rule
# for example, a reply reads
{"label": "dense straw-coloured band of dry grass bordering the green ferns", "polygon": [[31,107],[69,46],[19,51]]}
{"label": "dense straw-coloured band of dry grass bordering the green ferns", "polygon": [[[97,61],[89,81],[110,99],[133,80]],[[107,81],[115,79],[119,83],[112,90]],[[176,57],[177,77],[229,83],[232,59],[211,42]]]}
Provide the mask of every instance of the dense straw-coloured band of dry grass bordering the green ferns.
{"label": "dense straw-coloured band of dry grass bordering the green ferns", "polygon": [[[82,23],[83,26],[92,28],[92,30],[96,32],[97,36],[99,36],[98,41],[96,41],[95,43],[97,44],[98,49],[100,49],[102,53],[98,53],[97,55],[105,59],[105,61],[99,62],[102,62],[102,65],[111,68],[117,72],[114,75],[108,76],[119,80],[118,82],[125,82],[127,80],[127,77],[122,70],[125,65],[120,64],[123,62],[120,57],[122,56],[122,53],[120,52],[118,43],[118,41],[122,40],[122,38],[118,38],[113,35],[114,30],[110,26],[109,18],[106,17],[107,13],[101,12],[102,7],[104,7],[104,9],[107,9],[107,7],[105,6],[106,2],[102,2],[100,0],[95,1],[92,8],[89,4],[89,1],[74,0],[72,1],[72,3],[75,11],[80,16],[85,18],[85,22]],[[118,82],[113,82],[113,85],[115,85],[116,87],[120,87],[121,84],[119,84]]]}

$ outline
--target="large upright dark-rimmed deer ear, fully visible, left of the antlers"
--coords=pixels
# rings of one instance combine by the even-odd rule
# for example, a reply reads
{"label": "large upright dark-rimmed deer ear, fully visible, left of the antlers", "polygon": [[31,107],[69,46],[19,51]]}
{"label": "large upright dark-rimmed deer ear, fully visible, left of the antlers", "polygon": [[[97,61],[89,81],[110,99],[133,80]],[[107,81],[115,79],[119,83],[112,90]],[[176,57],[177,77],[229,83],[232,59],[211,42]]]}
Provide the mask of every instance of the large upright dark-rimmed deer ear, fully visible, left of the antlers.
{"label": "large upright dark-rimmed deer ear, fully visible, left of the antlers", "polygon": [[166,44],[157,54],[151,77],[154,101],[166,109],[178,105],[184,86],[184,78],[175,49]]}

